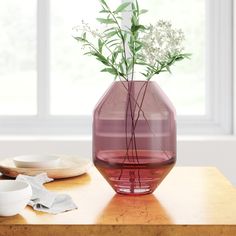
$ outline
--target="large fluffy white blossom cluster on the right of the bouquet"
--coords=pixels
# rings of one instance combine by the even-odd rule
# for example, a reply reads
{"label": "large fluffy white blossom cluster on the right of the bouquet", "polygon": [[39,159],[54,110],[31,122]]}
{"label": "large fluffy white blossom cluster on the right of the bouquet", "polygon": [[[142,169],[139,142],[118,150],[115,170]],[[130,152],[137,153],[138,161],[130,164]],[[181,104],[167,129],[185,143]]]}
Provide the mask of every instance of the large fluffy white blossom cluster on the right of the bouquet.
{"label": "large fluffy white blossom cluster on the right of the bouquet", "polygon": [[182,30],[173,29],[170,22],[160,20],[144,32],[141,39],[144,44],[142,56],[151,65],[155,65],[157,61],[163,62],[169,55],[179,54],[184,50],[184,39]]}

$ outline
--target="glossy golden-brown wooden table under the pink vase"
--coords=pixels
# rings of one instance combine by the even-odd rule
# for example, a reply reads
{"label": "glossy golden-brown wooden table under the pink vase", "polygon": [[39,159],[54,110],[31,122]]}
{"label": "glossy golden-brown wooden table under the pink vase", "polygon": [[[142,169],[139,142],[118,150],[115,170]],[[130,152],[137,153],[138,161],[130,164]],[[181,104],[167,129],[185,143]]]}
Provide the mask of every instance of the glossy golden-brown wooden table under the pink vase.
{"label": "glossy golden-brown wooden table under the pink vase", "polygon": [[116,195],[91,168],[49,183],[72,196],[78,210],[50,215],[26,207],[0,217],[0,236],[236,235],[236,190],[213,167],[175,167],[151,195]]}

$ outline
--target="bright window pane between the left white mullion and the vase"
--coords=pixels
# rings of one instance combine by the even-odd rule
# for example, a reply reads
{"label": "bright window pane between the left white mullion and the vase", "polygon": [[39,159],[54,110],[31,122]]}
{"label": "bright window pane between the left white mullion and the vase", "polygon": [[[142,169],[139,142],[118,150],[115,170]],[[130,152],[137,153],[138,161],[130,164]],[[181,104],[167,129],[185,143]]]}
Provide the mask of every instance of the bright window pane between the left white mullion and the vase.
{"label": "bright window pane between the left white mullion and the vase", "polygon": [[[117,6],[120,0],[110,2]],[[100,73],[101,66],[94,58],[83,55],[71,29],[82,20],[96,28],[100,3],[90,0],[81,5],[77,0],[51,0],[50,9],[51,114],[91,115],[112,78]]]}

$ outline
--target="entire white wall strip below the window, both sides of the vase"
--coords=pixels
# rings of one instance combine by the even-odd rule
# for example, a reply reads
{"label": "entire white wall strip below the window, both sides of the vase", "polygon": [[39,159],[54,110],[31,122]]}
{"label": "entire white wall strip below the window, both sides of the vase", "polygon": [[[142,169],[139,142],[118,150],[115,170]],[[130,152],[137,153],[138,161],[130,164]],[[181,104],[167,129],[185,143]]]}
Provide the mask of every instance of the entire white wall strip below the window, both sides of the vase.
{"label": "entire white wall strip below the window, both sides of the vase", "polygon": [[[20,154],[68,154],[91,158],[89,137],[4,137],[0,159]],[[236,186],[236,138],[179,137],[177,165],[216,166]]]}

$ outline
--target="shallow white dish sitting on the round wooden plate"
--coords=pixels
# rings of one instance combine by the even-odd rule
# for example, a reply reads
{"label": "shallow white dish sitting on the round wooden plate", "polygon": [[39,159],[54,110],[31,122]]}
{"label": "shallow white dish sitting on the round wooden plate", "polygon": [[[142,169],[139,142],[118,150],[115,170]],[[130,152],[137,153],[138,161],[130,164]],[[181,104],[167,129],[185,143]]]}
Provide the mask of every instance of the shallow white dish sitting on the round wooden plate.
{"label": "shallow white dish sitting on the round wooden plate", "polygon": [[24,155],[13,158],[19,168],[55,168],[59,165],[60,158],[51,155]]}

